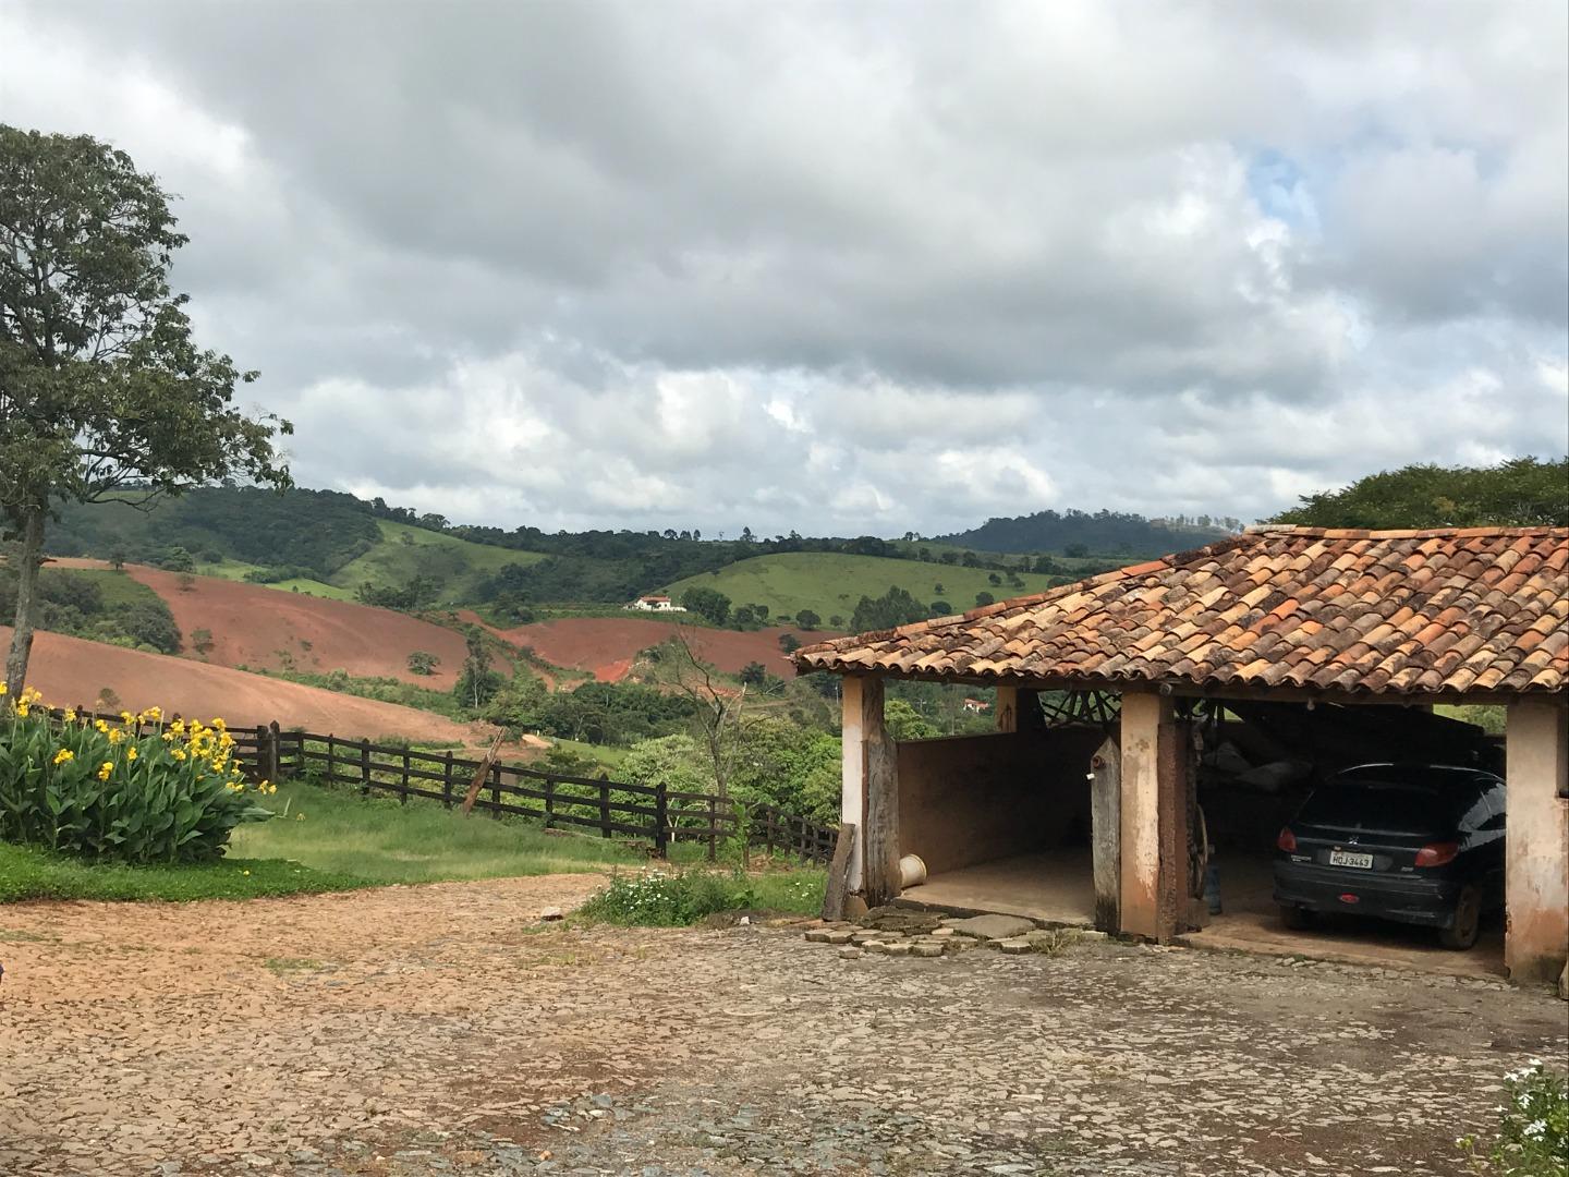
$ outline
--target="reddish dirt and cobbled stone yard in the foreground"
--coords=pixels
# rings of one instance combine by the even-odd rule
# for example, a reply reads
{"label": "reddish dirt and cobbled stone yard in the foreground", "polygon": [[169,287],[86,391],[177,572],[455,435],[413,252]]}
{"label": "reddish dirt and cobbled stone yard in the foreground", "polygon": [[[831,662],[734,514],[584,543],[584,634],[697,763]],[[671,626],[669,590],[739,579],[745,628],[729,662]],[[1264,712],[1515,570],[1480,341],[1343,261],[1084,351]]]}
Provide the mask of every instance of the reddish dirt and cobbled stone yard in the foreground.
{"label": "reddish dirt and cobbled stone yard in the foreground", "polygon": [[0,907],[3,1174],[1458,1174],[1500,981],[581,931],[593,876]]}

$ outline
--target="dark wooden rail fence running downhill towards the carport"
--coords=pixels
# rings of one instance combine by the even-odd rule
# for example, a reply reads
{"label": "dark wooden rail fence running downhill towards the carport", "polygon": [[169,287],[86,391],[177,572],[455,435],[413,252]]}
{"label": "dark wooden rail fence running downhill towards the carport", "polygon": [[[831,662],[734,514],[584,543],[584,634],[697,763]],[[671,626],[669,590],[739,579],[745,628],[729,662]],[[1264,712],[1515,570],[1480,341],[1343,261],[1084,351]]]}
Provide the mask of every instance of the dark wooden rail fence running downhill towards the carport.
{"label": "dark wooden rail fence running downhill towards the carport", "polygon": [[544,829],[598,830],[604,838],[621,836],[646,843],[664,858],[675,841],[706,847],[709,862],[719,847],[745,829],[747,844],[769,854],[791,854],[808,862],[828,862],[838,829],[786,813],[774,805],[737,807],[709,793],[683,793],[659,785],[601,777],[576,777],[516,764],[468,760],[452,752],[416,752],[370,741],[284,731],[276,723],[229,728],[235,760],[253,778],[300,777],[358,788],[361,794],[439,800],[447,808],[464,805],[494,818],[513,814],[538,821]]}

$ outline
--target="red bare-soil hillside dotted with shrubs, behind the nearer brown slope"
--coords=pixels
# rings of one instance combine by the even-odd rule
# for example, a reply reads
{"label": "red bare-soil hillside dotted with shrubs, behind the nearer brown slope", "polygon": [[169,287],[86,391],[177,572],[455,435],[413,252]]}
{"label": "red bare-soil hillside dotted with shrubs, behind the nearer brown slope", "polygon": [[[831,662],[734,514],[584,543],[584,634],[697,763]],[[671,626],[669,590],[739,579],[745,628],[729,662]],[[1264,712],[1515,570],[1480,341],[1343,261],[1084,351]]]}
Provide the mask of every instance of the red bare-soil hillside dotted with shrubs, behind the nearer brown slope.
{"label": "red bare-soil hillside dotted with shrubs, behind the nearer brown slope", "polygon": [[[53,560],[55,568],[107,568],[100,560]],[[267,670],[347,670],[358,676],[400,678],[447,691],[463,667],[463,634],[417,617],[348,601],[286,593],[243,581],[198,576],[180,592],[179,576],[162,568],[126,565],[127,574],[162,596],[191,651],[196,629],[212,632],[202,661],[221,667]],[[435,675],[414,675],[408,656],[424,650],[441,659]]]}

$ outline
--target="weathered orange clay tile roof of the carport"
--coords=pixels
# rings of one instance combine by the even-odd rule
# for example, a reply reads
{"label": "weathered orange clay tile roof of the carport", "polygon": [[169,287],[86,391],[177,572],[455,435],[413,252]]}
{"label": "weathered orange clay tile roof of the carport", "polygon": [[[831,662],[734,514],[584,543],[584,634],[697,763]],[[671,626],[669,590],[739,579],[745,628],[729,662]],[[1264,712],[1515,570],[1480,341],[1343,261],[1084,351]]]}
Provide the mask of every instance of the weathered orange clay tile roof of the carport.
{"label": "weathered orange clay tile roof of the carport", "polygon": [[795,669],[1061,686],[1569,691],[1569,527],[1257,527],[962,617],[803,647]]}

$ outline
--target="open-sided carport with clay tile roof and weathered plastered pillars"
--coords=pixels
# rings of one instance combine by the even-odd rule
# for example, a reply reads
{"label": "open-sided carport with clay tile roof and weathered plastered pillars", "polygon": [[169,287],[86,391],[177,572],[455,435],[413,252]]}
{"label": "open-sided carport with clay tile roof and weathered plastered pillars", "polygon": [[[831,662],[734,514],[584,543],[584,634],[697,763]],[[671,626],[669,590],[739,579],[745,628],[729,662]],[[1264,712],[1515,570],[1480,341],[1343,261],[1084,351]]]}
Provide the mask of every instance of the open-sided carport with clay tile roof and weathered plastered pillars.
{"label": "open-sided carport with clay tile roof and weathered plastered pillars", "polygon": [[[850,891],[872,906],[896,898],[902,854],[940,874],[1079,824],[1095,923],[1158,940],[1197,921],[1196,703],[1503,705],[1505,960],[1517,979],[1564,967],[1569,529],[1255,527],[794,661],[799,673],[844,676]],[[996,687],[998,733],[893,742],[890,678]],[[1116,697],[1120,714],[1053,727],[1042,692],[1092,708]]]}

